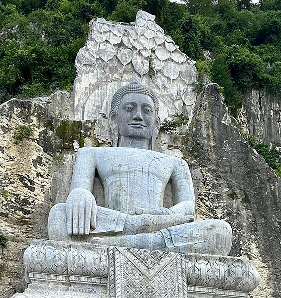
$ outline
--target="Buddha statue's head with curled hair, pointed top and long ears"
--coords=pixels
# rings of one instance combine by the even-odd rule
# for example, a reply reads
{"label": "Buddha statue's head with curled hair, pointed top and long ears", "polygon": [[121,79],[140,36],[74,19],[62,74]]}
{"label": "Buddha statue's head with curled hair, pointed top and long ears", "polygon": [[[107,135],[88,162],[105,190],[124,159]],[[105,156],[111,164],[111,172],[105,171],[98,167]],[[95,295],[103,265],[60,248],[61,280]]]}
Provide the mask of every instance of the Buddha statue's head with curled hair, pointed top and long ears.
{"label": "Buddha statue's head with curled hair, pointed top and long ears", "polygon": [[122,140],[126,140],[127,146],[132,141],[132,147],[144,148],[142,144],[148,144],[147,149],[153,150],[160,128],[158,110],[155,93],[141,85],[134,75],[131,83],[120,88],[111,101],[113,145],[120,147]]}

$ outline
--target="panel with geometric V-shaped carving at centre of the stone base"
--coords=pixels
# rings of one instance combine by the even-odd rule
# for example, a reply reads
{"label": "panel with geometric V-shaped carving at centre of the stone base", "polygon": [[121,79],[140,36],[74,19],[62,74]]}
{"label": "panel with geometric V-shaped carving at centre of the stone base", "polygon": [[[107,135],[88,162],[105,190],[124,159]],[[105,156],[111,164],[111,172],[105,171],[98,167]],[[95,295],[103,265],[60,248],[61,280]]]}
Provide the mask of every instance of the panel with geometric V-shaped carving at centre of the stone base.
{"label": "panel with geometric V-shaped carving at centre of the stone base", "polygon": [[187,298],[185,258],[167,251],[112,247],[110,298]]}

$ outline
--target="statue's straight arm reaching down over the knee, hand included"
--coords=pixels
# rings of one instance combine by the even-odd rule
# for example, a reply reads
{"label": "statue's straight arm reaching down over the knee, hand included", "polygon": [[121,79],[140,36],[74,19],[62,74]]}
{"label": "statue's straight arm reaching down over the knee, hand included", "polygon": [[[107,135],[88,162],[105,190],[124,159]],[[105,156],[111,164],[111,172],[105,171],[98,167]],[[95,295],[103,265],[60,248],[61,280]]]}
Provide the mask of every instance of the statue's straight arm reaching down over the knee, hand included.
{"label": "statue's straight arm reaching down over the knee, hand included", "polygon": [[96,161],[93,149],[79,150],[66,199],[68,234],[89,234],[90,226],[96,226],[97,205],[92,194],[95,180]]}

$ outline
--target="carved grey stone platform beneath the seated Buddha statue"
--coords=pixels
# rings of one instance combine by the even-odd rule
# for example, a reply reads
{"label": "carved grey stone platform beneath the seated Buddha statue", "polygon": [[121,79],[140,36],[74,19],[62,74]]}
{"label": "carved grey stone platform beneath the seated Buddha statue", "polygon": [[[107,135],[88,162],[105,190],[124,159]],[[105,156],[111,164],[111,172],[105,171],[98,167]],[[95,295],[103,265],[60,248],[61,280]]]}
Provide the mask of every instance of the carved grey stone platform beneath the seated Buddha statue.
{"label": "carved grey stone platform beneath the seated Buddha statue", "polygon": [[243,257],[49,240],[31,241],[24,267],[13,298],[246,298],[260,281]]}

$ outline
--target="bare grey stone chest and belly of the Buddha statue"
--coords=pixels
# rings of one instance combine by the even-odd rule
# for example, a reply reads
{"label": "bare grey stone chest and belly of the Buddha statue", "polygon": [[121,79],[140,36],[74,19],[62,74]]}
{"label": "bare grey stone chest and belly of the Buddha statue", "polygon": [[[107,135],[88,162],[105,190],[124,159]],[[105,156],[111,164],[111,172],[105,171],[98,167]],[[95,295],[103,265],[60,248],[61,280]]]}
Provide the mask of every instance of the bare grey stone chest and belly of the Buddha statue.
{"label": "bare grey stone chest and belly of the Buddha statue", "polygon": [[93,147],[104,187],[105,207],[135,214],[135,208],[157,208],[170,179],[175,157],[135,148]]}

